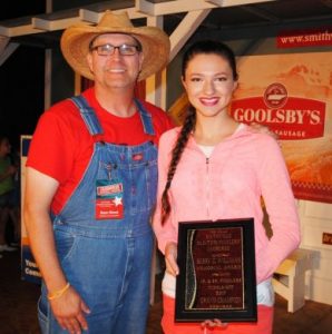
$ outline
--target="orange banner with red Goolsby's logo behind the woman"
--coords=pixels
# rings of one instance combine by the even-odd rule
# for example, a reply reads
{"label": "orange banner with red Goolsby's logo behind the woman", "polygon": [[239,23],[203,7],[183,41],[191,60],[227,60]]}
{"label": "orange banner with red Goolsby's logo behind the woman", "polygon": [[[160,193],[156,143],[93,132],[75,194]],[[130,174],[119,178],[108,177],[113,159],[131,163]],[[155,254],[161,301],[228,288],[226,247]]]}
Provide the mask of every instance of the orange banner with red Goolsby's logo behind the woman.
{"label": "orange banner with red Goolsby's logo behind the woman", "polygon": [[296,198],[332,203],[332,52],[238,59],[233,117],[279,135]]}

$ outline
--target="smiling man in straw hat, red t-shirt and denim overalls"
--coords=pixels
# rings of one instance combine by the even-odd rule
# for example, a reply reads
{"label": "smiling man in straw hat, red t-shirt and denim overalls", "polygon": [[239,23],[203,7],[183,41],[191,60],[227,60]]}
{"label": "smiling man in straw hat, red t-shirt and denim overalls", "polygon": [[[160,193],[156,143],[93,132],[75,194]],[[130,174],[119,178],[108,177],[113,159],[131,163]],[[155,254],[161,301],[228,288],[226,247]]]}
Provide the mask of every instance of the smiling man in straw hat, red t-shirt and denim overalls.
{"label": "smiling man in straw hat, red t-shirt and denim overalls", "polygon": [[46,111],[26,174],[25,222],[43,284],[42,333],[145,333],[159,136],[173,125],[134,88],[166,66],[169,39],[107,11],[61,50],[95,80]]}

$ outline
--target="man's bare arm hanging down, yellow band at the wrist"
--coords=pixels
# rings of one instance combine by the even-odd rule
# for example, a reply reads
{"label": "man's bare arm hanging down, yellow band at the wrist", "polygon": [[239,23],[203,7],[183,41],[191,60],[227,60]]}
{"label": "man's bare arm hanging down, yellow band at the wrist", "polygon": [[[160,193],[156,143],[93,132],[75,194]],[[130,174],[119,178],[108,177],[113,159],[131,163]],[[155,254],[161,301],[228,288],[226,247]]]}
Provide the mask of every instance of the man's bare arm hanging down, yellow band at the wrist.
{"label": "man's bare arm hanging down, yellow band at the wrist", "polygon": [[[52,223],[49,217],[50,204],[58,186],[59,183],[56,179],[27,167],[25,224],[35,259],[49,295],[61,291],[67,284],[57,256]],[[72,287],[50,301],[50,304],[62,328],[68,330],[69,333],[80,333],[80,327],[87,328],[84,313],[88,313],[89,310]]]}

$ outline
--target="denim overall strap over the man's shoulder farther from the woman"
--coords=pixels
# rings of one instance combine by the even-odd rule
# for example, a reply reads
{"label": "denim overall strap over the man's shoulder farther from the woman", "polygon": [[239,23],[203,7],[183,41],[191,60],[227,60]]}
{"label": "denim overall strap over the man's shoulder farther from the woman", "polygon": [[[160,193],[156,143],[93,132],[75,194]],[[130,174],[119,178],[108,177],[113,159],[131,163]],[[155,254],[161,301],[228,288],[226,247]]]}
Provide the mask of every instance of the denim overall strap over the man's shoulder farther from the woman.
{"label": "denim overall strap over the man's shoulder farther from the woman", "polygon": [[104,131],[102,131],[100,122],[96,116],[96,112],[89,106],[86,98],[84,96],[79,95],[79,96],[71,97],[70,99],[74,101],[74,104],[79,109],[80,116],[82,117],[82,119],[89,130],[89,134],[91,136],[102,135]]}

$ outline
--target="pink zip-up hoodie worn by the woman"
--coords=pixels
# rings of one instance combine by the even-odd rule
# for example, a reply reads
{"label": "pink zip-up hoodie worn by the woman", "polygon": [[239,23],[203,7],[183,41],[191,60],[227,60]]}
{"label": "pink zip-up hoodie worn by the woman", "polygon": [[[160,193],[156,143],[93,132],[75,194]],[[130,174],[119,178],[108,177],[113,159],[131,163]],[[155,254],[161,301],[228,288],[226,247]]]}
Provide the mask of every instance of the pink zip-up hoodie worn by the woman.
{"label": "pink zip-up hoodie worn by the woman", "polygon": [[[191,137],[168,191],[170,216],[162,226],[160,197],[178,132],[179,128],[172,129],[159,141],[158,197],[153,222],[159,249],[164,253],[168,242],[177,243],[178,222],[253,217],[257,284],[271,277],[300,243],[297,210],[277,143],[242,125],[207,159]],[[261,196],[273,230],[271,239],[262,224]]]}

